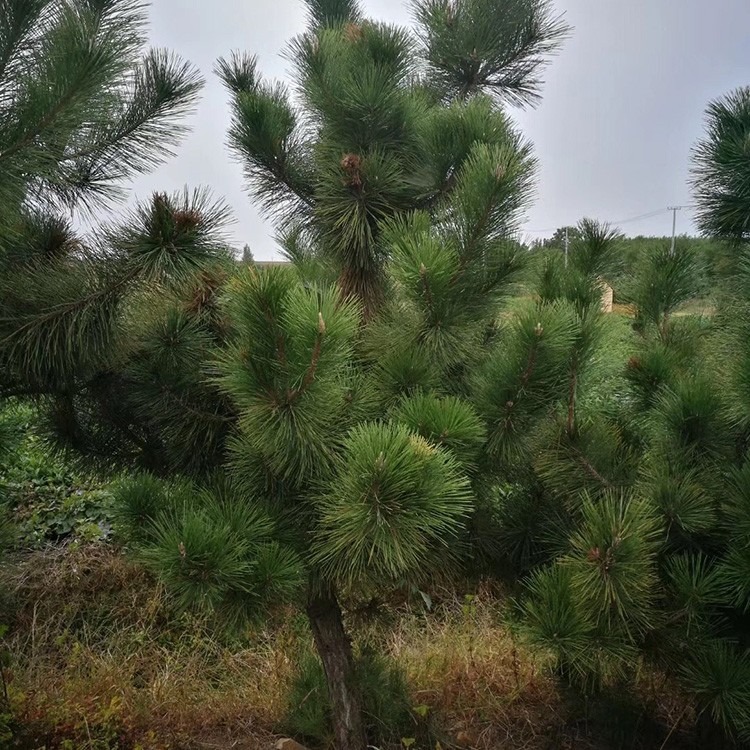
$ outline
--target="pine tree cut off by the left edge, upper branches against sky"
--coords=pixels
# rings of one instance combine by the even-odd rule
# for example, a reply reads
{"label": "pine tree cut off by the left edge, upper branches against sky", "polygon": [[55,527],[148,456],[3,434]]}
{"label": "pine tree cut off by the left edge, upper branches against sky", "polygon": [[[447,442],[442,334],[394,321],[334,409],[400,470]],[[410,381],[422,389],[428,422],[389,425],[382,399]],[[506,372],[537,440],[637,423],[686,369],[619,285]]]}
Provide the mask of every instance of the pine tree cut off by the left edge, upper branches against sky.
{"label": "pine tree cut off by the left edge, upper branches against sky", "polygon": [[4,395],[72,394],[101,369],[123,293],[153,270],[124,238],[84,239],[65,216],[113,205],[185,132],[201,78],[144,51],[144,20],[132,0],[0,4]]}

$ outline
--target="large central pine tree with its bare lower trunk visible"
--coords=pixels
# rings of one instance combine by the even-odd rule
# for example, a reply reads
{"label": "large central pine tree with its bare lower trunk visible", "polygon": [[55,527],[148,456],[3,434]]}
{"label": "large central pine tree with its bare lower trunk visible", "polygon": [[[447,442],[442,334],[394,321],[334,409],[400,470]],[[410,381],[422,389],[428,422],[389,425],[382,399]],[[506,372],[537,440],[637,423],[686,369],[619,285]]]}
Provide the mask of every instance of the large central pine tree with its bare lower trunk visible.
{"label": "large central pine tree with its bare lower trunk visible", "polygon": [[293,267],[238,266],[221,206],[186,193],[2,274],[6,393],[43,396],[85,460],[147,471],[118,489],[122,525],[178,602],[225,624],[300,602],[357,750],[341,601],[471,558],[495,464],[529,458],[577,336],[568,303],[498,318],[535,166],[502,105],[538,96],[566,27],[541,0],[414,10],[416,34],[310,2],[298,107],[253,58],[217,66]]}

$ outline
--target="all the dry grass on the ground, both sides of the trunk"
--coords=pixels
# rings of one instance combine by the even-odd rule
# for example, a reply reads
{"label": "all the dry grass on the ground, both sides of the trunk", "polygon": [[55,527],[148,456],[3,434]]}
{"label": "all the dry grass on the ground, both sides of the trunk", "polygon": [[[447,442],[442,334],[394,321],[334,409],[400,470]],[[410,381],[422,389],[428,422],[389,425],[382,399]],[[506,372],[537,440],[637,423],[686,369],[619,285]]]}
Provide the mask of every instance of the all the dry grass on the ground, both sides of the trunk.
{"label": "all the dry grass on the ground, both sides of the trunk", "polygon": [[[280,609],[242,638],[221,637],[209,623],[173,611],[153,580],[104,544],[33,552],[0,573],[0,591],[9,592],[0,611],[11,614],[6,674],[15,747],[273,746],[297,666],[312,650],[295,610]],[[358,644],[384,651],[403,671],[415,716],[435,728],[440,747],[659,746],[649,735],[612,744],[605,731],[612,712],[603,709],[597,723],[548,674],[503,623],[502,591],[483,585],[464,597],[454,589],[432,593],[430,613],[391,602],[366,617],[351,611],[349,624]],[[675,720],[685,723],[684,701],[649,679],[641,692],[661,722],[656,736],[677,723],[667,747],[684,746]],[[637,721],[644,706],[629,705]],[[628,714],[629,727],[634,721]]]}

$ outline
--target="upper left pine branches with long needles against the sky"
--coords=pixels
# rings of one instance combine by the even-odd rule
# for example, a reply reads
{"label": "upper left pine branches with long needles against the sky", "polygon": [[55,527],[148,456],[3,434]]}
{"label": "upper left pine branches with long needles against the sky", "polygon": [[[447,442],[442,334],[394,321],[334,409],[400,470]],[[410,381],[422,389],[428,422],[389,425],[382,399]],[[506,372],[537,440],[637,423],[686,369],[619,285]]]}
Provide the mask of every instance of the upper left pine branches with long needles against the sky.
{"label": "upper left pine branches with long needles against the sky", "polygon": [[[123,0],[5,0],[0,28],[0,195],[6,221],[29,206],[93,207],[170,153],[201,80],[144,50],[144,12]],[[114,189],[114,194],[113,194]]]}

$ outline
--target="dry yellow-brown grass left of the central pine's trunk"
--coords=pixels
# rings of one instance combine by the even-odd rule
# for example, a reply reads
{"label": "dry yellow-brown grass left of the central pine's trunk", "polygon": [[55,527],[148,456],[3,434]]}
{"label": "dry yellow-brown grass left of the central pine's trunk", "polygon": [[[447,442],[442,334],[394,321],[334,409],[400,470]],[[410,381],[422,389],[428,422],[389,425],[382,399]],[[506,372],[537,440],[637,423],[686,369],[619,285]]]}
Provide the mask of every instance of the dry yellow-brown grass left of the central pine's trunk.
{"label": "dry yellow-brown grass left of the central pine's trunk", "polygon": [[15,710],[49,747],[72,737],[81,748],[118,741],[158,750],[227,733],[242,740],[238,748],[269,746],[294,669],[290,616],[246,647],[222,645],[103,547],[35,554],[5,585],[20,599],[10,642]]}

